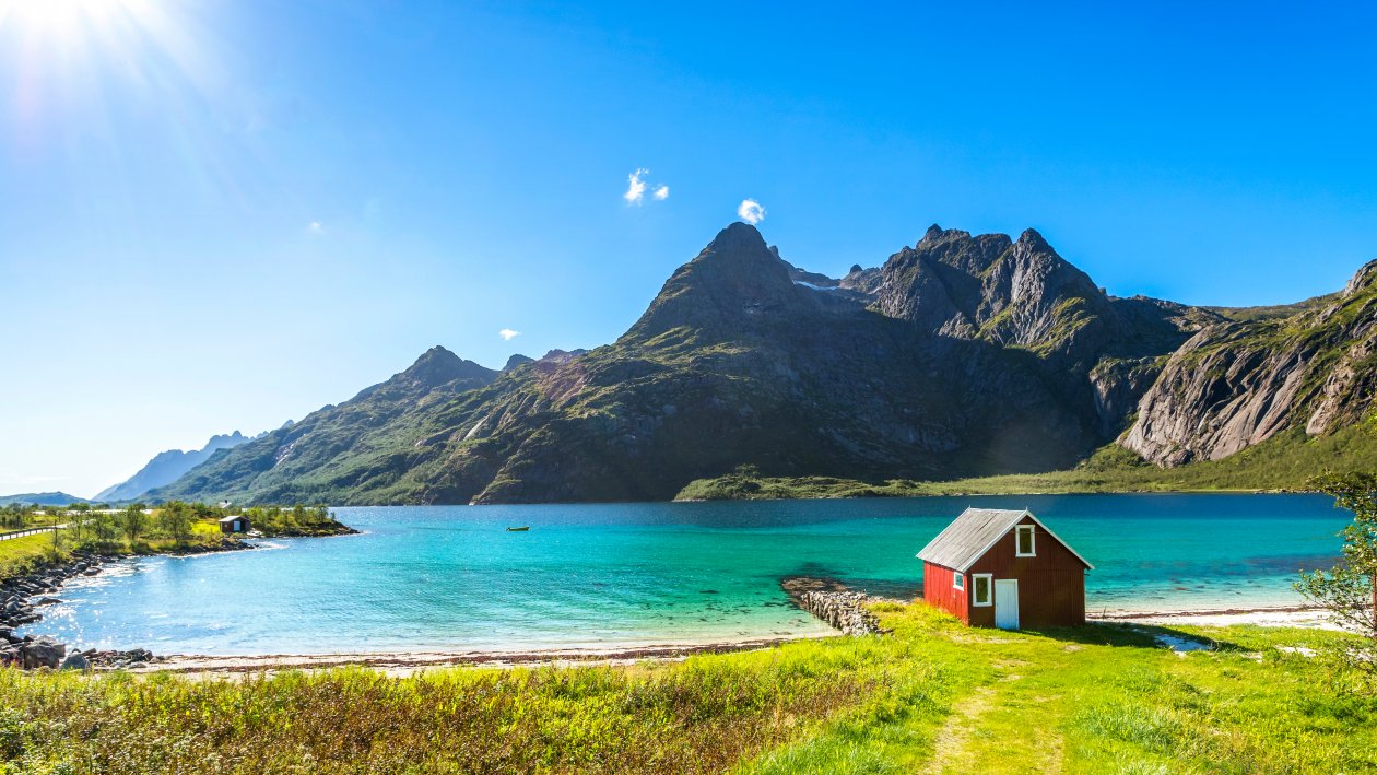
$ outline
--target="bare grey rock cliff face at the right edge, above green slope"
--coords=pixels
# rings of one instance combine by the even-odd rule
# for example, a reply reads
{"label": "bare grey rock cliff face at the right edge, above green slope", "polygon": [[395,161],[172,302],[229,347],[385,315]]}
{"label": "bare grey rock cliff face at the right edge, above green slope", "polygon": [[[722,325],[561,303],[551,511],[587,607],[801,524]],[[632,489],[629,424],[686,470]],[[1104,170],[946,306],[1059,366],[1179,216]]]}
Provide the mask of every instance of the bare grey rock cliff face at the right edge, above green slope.
{"label": "bare grey rock cliff face at the right edge, above green slope", "polygon": [[1219,460],[1292,427],[1358,421],[1377,387],[1377,262],[1319,308],[1191,337],[1143,396],[1122,445],[1161,465]]}

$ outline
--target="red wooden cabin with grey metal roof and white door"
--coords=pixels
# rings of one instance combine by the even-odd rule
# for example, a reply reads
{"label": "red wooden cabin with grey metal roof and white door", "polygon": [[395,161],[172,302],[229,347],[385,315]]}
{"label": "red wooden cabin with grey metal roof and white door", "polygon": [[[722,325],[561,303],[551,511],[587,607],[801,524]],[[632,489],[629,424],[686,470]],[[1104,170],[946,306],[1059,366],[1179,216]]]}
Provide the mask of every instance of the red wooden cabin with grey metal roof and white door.
{"label": "red wooden cabin with grey metal roof and white door", "polygon": [[1085,624],[1095,566],[1033,512],[968,508],[918,552],[923,597],[972,626]]}

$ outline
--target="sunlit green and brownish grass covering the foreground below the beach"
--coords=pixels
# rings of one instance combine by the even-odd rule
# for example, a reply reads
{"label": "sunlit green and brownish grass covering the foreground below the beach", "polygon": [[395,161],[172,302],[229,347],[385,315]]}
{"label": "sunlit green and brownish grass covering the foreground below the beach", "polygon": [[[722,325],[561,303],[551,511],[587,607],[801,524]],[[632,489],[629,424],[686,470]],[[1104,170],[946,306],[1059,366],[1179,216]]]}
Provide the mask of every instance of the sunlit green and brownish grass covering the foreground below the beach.
{"label": "sunlit green and brownish grass covering the foreground below the beach", "polygon": [[[1377,699],[1276,646],[1183,628],[892,636],[632,668],[364,669],[189,680],[0,669],[11,772],[1371,772]],[[0,771],[4,768],[0,767]]]}

